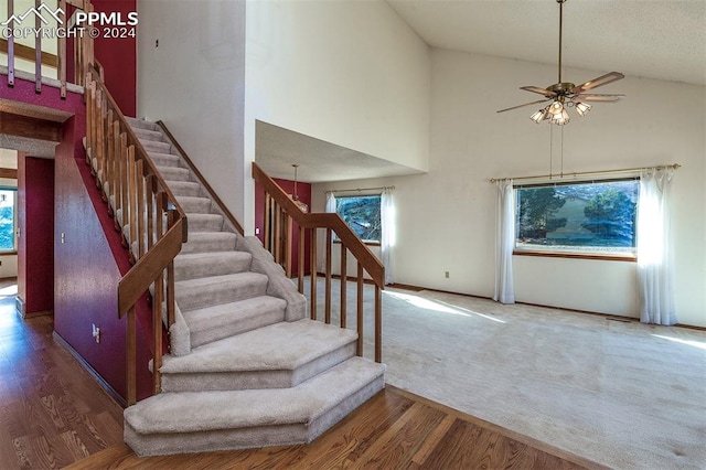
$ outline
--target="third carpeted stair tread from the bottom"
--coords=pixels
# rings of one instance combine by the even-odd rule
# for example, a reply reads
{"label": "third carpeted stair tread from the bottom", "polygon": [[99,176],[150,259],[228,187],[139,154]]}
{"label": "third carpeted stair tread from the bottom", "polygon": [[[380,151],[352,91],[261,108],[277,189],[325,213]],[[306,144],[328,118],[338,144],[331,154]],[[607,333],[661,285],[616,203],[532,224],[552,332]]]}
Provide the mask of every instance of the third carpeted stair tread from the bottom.
{"label": "third carpeted stair tread from the bottom", "polygon": [[284,320],[284,310],[287,308],[287,301],[271,296],[253,297],[237,302],[190,310],[182,312],[182,314],[184,321],[189,324],[189,329],[194,333],[213,328],[214,323],[222,325],[226,321],[242,322],[252,317],[260,316],[264,308],[281,309]]}

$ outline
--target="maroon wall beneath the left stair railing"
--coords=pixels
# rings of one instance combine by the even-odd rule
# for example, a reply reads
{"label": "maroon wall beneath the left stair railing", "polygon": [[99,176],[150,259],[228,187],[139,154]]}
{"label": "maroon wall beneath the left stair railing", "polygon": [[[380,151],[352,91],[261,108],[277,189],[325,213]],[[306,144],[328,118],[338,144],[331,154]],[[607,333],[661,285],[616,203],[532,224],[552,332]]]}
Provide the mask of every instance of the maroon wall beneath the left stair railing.
{"label": "maroon wall beneath the left stair railing", "polygon": [[[0,97],[74,114],[64,124],[54,159],[54,229],[49,234],[54,249],[54,331],[125,397],[127,321],[118,320],[117,288],[130,264],[85,162],[83,95],[68,93],[61,99],[58,90],[49,86],[38,95],[34,83],[15,79],[13,88],[0,86]],[[28,181],[33,174],[28,171]],[[138,305],[139,399],[151,395],[149,314],[143,298]],[[101,330],[99,344],[92,335],[92,324]]]}

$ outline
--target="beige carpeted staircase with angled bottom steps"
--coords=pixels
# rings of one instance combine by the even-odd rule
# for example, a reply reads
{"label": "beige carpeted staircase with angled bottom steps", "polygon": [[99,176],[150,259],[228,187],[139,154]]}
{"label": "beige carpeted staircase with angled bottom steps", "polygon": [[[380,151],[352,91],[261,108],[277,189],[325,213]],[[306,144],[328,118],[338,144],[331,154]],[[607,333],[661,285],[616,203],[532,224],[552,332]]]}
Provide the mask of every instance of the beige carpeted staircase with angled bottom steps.
{"label": "beige carpeted staircase with angled bottom steps", "polygon": [[128,121],[189,227],[174,259],[175,322],[160,367],[162,393],[125,410],[132,450],[310,442],[384,388],[384,365],[355,356],[354,331],[304,318],[304,297],[259,239],[231,226],[161,128]]}

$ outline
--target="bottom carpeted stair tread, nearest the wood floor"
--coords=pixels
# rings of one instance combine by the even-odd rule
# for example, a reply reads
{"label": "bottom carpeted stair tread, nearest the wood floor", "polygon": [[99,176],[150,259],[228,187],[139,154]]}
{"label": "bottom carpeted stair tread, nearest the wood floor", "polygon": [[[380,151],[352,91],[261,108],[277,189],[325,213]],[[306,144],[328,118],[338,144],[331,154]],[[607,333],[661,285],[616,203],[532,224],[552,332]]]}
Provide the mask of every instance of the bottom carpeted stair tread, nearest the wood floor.
{"label": "bottom carpeted stair tread, nearest the wood floor", "polygon": [[162,393],[128,407],[125,420],[142,435],[310,424],[384,371],[351,357],[290,388]]}

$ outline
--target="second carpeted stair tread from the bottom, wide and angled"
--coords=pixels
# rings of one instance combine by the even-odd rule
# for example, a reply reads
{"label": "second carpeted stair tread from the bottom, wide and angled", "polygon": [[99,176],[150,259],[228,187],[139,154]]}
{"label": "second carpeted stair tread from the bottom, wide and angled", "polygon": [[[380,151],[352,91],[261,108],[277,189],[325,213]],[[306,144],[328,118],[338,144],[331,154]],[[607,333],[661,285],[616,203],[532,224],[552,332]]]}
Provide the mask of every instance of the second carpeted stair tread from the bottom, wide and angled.
{"label": "second carpeted stair tread from the bottom, wide and angled", "polygon": [[270,324],[164,356],[162,373],[296,370],[357,339],[353,330],[302,319]]}

